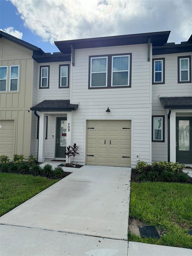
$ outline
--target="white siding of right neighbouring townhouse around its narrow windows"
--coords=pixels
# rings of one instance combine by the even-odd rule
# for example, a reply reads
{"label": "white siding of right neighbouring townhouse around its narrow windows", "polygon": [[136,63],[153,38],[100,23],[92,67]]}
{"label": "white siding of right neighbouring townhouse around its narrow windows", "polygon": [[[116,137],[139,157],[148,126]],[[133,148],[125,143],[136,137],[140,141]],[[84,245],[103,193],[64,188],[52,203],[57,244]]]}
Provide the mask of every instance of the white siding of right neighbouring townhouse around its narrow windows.
{"label": "white siding of right neighbouring townhouse around its narrow windows", "polygon": [[177,57],[192,55],[191,52],[153,55],[153,59],[165,58],[165,84],[152,85],[152,115],[165,116],[165,142],[152,142],[152,161],[167,161],[167,110],[160,102],[161,97],[192,96],[191,83],[179,83],[177,77]]}

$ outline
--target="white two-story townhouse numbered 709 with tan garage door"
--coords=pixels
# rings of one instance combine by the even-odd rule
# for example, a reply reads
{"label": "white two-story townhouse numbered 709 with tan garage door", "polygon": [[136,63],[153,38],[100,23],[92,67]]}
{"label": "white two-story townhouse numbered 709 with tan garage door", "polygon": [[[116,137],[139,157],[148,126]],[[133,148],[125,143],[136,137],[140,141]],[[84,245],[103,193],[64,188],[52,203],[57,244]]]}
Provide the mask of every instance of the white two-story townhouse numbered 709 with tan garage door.
{"label": "white two-story townhouse numbered 709 with tan garage door", "polygon": [[39,116],[39,161],[64,159],[66,145],[77,143],[81,164],[151,163],[152,46],[169,33],[55,42],[66,61],[41,56],[31,108]]}

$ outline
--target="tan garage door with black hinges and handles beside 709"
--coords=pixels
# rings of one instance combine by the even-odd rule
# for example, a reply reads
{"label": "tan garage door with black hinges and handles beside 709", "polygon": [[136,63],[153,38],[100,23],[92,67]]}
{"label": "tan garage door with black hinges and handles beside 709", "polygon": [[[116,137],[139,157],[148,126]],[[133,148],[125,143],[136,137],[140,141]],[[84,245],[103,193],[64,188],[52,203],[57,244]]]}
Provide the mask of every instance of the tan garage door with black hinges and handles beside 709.
{"label": "tan garage door with black hinges and handles beside 709", "polygon": [[86,163],[131,166],[131,121],[88,120]]}

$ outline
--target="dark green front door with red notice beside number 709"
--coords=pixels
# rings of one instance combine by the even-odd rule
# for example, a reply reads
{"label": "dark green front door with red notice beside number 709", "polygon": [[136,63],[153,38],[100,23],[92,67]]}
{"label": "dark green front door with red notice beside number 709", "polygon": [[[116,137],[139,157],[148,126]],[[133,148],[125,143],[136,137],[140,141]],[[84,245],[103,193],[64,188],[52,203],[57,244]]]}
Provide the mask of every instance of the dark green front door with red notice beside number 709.
{"label": "dark green front door with red notice beside number 709", "polygon": [[66,137],[67,136],[67,118],[57,117],[57,132],[56,132],[56,157],[65,158],[66,152]]}

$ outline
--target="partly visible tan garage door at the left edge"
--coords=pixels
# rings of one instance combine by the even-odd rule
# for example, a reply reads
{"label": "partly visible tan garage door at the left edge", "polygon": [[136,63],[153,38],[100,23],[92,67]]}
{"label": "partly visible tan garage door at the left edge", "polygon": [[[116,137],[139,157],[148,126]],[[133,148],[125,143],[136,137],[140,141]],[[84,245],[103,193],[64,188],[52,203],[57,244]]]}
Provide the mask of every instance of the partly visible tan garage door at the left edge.
{"label": "partly visible tan garage door at the left edge", "polygon": [[0,120],[0,155],[13,158],[14,120]]}

